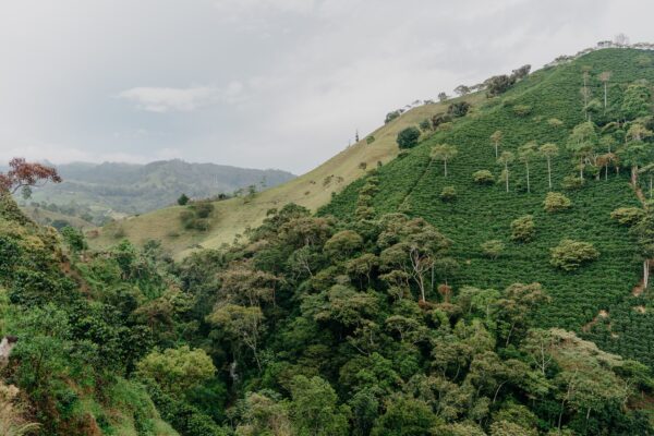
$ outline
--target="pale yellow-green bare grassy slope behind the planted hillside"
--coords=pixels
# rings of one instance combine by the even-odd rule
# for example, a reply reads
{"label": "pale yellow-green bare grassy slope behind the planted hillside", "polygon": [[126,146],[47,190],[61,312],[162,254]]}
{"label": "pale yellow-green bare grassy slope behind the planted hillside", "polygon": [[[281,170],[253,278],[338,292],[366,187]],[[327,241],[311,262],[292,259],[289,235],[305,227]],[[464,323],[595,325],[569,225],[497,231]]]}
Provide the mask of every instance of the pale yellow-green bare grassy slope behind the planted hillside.
{"label": "pale yellow-green bare grassy slope behind the planted hillside", "polygon": [[[470,96],[468,99],[479,100],[480,97]],[[444,110],[445,106],[440,104],[414,108],[373,132],[372,135],[376,140],[371,145],[362,140],[316,169],[264,191],[249,203],[244,203],[243,198],[215,203],[216,209],[208,232],[182,230],[179,215],[183,207],[169,207],[107,226],[99,238],[90,241],[92,246],[101,247],[116,243],[114,234],[118,229],[122,229],[124,235],[136,243],[147,239],[161,240],[166,249],[177,257],[183,257],[196,244],[213,249],[232,242],[234,237],[246,228],[258,226],[266,211],[272,207],[293,202],[316,210],[329,202],[332,192],[341,191],[364,174],[359,168],[360,162],[366,162],[367,168],[374,168],[377,161],[387,164],[393,159],[398,154],[396,136],[400,130]],[[334,175],[332,181],[325,185],[324,181],[330,175]],[[340,183],[336,180],[338,177],[342,178]]]}

